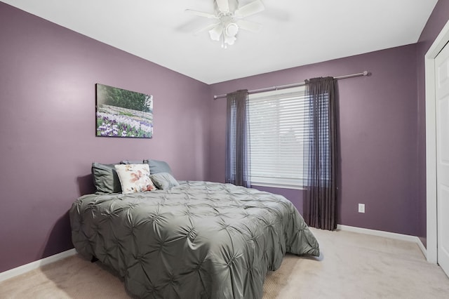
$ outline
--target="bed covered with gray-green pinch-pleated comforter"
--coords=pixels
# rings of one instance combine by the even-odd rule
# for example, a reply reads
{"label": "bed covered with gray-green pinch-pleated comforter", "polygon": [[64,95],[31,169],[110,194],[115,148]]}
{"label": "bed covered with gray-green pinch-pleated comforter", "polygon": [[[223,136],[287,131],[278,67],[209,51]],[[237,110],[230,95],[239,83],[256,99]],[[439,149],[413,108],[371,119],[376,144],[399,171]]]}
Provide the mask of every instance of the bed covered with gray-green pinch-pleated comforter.
{"label": "bed covered with gray-green pinch-pleated comforter", "polygon": [[302,216],[280,195],[177,182],[166,169],[152,175],[157,189],[87,194],[69,211],[76,251],[116,271],[130,295],[262,298],[265,275],[286,253],[319,256]]}

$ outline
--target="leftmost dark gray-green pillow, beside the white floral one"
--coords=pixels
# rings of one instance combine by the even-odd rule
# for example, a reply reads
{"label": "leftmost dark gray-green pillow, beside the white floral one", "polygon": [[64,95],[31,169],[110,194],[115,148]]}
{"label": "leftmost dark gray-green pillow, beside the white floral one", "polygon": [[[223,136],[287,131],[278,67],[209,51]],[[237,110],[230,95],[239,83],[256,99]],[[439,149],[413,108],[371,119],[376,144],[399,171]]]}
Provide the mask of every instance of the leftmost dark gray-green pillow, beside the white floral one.
{"label": "leftmost dark gray-green pillow, beside the white floral one", "polygon": [[119,193],[121,185],[114,164],[92,164],[93,185],[97,193]]}

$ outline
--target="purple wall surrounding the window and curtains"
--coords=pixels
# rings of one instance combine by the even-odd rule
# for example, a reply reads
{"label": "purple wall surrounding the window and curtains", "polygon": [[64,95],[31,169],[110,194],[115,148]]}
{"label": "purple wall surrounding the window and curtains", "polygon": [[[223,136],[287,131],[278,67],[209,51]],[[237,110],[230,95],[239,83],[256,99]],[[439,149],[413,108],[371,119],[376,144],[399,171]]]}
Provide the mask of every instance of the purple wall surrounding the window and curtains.
{"label": "purple wall surrounding the window and curtains", "polygon": [[[241,88],[293,84],[320,76],[368,70],[370,77],[339,80],[340,182],[338,220],[342,225],[417,233],[416,45],[331,60],[214,84],[212,95]],[[210,105],[210,180],[225,173],[226,100]],[[302,203],[300,192],[288,194]],[[358,203],[366,213],[358,213]]]}

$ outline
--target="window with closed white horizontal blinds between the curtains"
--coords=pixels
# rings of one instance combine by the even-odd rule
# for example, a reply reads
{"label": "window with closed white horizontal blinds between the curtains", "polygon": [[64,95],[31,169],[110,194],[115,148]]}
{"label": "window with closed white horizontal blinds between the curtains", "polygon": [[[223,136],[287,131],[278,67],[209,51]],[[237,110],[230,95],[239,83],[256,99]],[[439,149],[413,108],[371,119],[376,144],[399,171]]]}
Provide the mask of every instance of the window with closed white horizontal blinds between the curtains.
{"label": "window with closed white horizontal blinds between the curtains", "polygon": [[[304,185],[304,142],[309,103],[305,87],[249,95],[250,180],[252,185]],[[323,97],[326,98],[326,97]],[[326,105],[327,106],[327,105]]]}

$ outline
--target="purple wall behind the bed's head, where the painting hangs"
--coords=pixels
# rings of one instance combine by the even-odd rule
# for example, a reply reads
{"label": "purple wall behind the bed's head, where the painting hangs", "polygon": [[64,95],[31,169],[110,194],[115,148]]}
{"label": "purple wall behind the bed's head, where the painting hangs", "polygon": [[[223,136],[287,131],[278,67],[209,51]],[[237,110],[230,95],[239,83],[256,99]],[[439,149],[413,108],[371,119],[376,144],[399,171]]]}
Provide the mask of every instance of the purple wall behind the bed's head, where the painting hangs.
{"label": "purple wall behind the bed's head, where the painting hangs", "polygon": [[[3,3],[0,36],[0,272],[73,248],[67,211],[93,161],[206,179],[208,85]],[[154,95],[154,138],[95,137],[95,83]]]}

